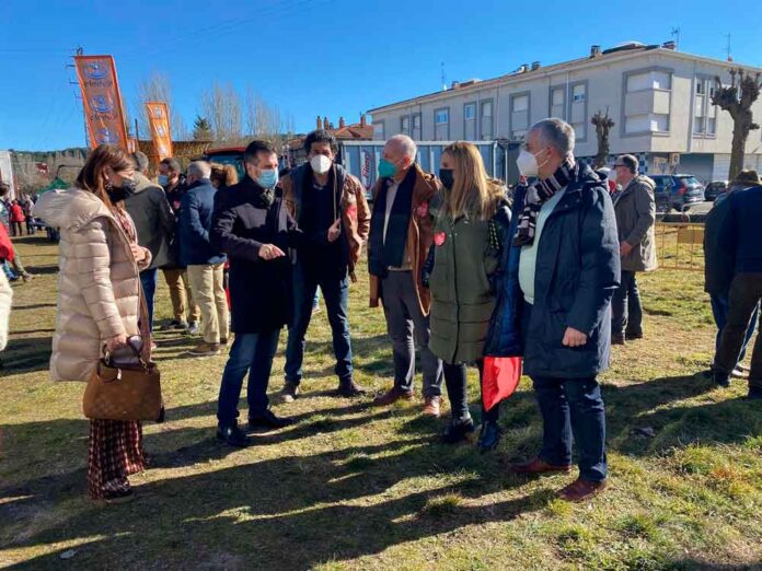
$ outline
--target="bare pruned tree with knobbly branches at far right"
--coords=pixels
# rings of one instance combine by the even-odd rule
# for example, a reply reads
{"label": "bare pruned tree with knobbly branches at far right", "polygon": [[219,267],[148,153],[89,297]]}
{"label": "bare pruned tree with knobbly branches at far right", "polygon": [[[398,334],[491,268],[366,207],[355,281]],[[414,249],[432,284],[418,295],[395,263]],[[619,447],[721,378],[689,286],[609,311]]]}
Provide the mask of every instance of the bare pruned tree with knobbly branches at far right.
{"label": "bare pruned tree with knobbly branches at far right", "polygon": [[[738,78],[738,81],[736,79]],[[715,75],[715,92],[712,95],[712,104],[728,112],[732,118],[732,145],[730,148],[730,171],[728,180],[743,168],[743,153],[746,151],[749,132],[759,129],[753,121],[751,106],[760,96],[760,73],[753,77],[741,68],[730,70],[730,85],[723,85],[719,75]]]}

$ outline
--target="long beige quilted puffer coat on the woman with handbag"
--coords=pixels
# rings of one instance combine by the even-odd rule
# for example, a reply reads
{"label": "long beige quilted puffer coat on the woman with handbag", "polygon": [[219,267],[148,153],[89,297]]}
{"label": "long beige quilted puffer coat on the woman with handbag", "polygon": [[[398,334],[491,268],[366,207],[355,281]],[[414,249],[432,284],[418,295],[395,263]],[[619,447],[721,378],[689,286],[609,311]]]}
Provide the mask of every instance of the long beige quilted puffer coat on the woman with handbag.
{"label": "long beige quilted puffer coat on the woman with handbag", "polygon": [[139,271],[120,224],[92,193],[48,190],[37,217],[60,230],[58,316],[53,338],[54,381],[88,381],[105,339],[138,335]]}

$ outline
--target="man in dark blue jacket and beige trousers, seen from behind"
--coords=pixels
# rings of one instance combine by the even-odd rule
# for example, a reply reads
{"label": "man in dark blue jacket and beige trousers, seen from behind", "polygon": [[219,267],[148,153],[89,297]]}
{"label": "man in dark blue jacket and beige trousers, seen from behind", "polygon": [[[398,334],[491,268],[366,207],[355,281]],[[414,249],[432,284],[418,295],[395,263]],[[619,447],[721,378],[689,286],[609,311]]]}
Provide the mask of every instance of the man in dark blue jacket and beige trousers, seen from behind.
{"label": "man in dark blue jacket and beige trousers, seen from behind", "polygon": [[220,353],[228,345],[230,314],[224,294],[224,255],[209,242],[211,214],[215,210],[215,187],[205,161],[190,163],[187,171],[188,189],[180,207],[180,259],[187,266],[193,299],[201,310],[204,340],[190,351],[196,357]]}

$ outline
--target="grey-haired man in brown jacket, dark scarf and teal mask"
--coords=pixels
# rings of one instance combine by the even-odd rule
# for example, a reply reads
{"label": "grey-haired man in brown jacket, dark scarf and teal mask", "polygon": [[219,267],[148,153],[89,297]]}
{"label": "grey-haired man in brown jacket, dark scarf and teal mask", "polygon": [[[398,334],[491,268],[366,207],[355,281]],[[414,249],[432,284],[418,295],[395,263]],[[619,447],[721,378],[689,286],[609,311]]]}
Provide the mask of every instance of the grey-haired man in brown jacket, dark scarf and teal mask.
{"label": "grey-haired man in brown jacket, dark scarf and teal mask", "polygon": [[439,191],[439,180],[416,164],[416,153],[415,142],[407,136],[397,135],[386,141],[373,188],[368,238],[370,306],[383,303],[394,354],[394,385],[373,405],[388,406],[401,398],[413,398],[417,343],[424,377],[424,413],[438,417],[442,362],[429,349],[431,294],[422,282],[422,269],[434,244],[429,211]]}

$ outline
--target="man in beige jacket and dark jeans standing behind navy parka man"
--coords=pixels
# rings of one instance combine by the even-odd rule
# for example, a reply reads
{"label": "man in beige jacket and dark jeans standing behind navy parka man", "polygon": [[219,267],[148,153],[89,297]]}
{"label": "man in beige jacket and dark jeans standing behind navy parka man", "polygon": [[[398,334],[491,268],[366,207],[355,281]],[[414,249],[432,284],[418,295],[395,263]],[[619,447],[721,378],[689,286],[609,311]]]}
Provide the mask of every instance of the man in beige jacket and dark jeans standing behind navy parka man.
{"label": "man in beige jacket and dark jeans standing behind navy parka man", "polygon": [[623,154],[614,162],[610,175],[610,179],[622,186],[614,197],[622,279],[611,302],[612,345],[643,339],[643,305],[637,272],[656,269],[656,185],[647,176],[639,176],[637,167],[635,156]]}

